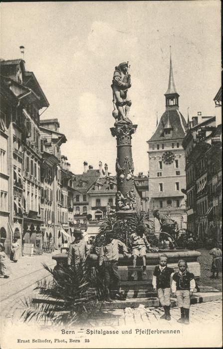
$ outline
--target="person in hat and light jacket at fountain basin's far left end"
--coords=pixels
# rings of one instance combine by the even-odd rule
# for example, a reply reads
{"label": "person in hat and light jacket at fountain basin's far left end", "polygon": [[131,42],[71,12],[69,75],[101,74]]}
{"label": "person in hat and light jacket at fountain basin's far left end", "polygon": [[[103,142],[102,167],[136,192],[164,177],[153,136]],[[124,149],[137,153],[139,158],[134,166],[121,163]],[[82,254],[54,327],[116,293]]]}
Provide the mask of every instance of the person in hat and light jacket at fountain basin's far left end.
{"label": "person in hat and light jacket at fountain basin's far left end", "polygon": [[89,248],[81,230],[74,230],[73,236],[75,240],[69,246],[67,265],[78,268],[80,264],[83,265]]}

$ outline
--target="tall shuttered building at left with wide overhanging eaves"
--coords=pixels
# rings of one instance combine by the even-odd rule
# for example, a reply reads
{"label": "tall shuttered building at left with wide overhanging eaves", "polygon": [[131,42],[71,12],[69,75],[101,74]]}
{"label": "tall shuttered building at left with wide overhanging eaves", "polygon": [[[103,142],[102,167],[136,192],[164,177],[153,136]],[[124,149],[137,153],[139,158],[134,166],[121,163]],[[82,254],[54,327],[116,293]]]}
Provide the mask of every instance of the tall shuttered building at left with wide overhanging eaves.
{"label": "tall shuttered building at left with wide overhanging eaves", "polygon": [[35,243],[35,234],[40,231],[39,110],[49,104],[34,74],[25,70],[24,60],[1,60],[0,68],[4,88],[8,90],[5,103],[10,105],[5,114],[8,227],[10,242],[22,237],[21,246],[22,242]]}

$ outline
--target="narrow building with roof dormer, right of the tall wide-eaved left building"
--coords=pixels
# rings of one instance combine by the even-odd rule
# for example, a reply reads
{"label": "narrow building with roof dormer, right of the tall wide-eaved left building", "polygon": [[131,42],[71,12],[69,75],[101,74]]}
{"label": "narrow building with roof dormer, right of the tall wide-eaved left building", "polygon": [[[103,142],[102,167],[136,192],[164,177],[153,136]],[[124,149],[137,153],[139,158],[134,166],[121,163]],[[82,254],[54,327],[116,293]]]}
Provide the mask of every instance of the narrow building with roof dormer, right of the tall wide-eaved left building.
{"label": "narrow building with roof dormer, right of the tall wide-eaved left building", "polygon": [[[68,222],[67,194],[64,193],[64,169],[60,147],[66,137],[60,133],[57,119],[40,121],[41,143],[41,231],[43,241],[55,247],[61,243],[63,224]],[[65,189],[66,191],[66,189]]]}

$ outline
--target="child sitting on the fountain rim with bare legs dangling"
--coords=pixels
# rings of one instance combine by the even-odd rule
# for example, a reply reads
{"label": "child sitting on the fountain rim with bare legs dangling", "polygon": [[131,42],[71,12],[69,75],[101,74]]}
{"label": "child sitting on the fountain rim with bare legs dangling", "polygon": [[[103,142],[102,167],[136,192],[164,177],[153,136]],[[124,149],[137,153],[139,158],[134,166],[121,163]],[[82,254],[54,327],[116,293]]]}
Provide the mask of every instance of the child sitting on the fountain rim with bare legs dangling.
{"label": "child sitting on the fountain rim with bare legs dangling", "polygon": [[[136,232],[132,233],[129,238],[129,244],[132,249],[133,267],[136,268],[137,257],[143,260],[143,274],[146,275],[146,247],[151,249],[145,235],[146,228],[140,224],[136,227]],[[133,271],[132,276],[135,275]]]}

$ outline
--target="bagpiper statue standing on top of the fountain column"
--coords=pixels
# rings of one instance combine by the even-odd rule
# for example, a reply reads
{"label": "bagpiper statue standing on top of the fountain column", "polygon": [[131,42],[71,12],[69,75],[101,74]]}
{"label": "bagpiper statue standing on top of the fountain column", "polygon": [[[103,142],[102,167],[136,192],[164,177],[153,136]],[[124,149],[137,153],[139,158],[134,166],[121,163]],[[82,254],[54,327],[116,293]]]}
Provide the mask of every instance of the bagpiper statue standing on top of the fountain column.
{"label": "bagpiper statue standing on top of the fountain column", "polygon": [[129,111],[132,101],[128,94],[128,89],[131,87],[131,75],[128,73],[128,63],[122,62],[115,67],[115,72],[112,80],[113,100],[118,109],[118,122],[132,124],[129,119]]}

